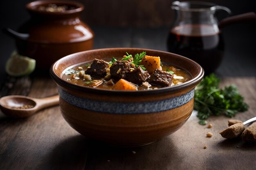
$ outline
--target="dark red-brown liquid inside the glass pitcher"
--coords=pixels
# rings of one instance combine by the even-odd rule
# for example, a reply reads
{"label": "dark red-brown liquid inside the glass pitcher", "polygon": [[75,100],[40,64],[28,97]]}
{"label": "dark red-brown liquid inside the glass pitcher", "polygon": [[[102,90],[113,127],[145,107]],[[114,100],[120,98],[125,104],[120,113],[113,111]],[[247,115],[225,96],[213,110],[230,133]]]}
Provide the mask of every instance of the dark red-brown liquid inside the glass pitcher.
{"label": "dark red-brown liquid inside the glass pitcher", "polygon": [[205,74],[212,73],[220,65],[224,44],[222,35],[211,25],[186,24],[174,27],[168,37],[168,51],[198,62]]}

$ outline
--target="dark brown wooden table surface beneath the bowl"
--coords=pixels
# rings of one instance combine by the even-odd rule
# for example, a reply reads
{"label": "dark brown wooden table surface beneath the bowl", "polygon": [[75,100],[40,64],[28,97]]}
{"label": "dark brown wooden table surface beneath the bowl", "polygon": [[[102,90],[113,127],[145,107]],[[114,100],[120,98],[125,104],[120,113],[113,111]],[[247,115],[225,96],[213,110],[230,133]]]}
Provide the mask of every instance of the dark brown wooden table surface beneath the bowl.
{"label": "dark brown wooden table surface beneath the bowl", "polygon": [[[166,50],[167,28],[94,29],[98,35],[94,48],[122,46]],[[104,30],[108,30],[108,34],[104,34]],[[244,121],[256,116],[256,72],[254,60],[248,57],[250,53],[243,60],[238,60],[238,55],[239,51],[228,47],[223,61],[227,65],[222,63],[217,73],[222,77],[222,87],[236,84],[249,104],[248,111],[234,117]],[[232,57],[237,60],[231,60]],[[0,96],[42,98],[57,93],[56,84],[49,76],[36,75],[7,77],[0,89]],[[207,121],[213,127],[209,129],[199,125],[193,113],[180,130],[153,144],[117,148],[80,135],[64,121],[58,106],[41,110],[27,119],[11,119],[0,112],[0,170],[255,170],[255,143],[220,136],[228,119],[210,117]],[[206,137],[207,132],[212,132],[213,137]]]}

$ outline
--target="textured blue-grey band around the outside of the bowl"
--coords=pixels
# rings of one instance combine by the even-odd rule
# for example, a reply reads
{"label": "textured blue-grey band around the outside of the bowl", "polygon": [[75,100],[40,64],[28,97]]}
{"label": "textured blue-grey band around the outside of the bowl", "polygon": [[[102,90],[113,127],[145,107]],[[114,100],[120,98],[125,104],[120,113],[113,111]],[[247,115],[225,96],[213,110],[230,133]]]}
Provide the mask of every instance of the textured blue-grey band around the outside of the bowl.
{"label": "textured blue-grey band around the outside of the bowl", "polygon": [[173,97],[165,100],[154,101],[154,102],[103,102],[91,99],[85,99],[81,97],[76,97],[67,93],[62,88],[58,88],[58,93],[60,97],[67,103],[91,110],[94,112],[101,113],[115,113],[115,114],[137,114],[137,113],[155,113],[166,110],[171,110],[173,108],[180,107],[193,99],[195,89],[189,91],[188,93]]}

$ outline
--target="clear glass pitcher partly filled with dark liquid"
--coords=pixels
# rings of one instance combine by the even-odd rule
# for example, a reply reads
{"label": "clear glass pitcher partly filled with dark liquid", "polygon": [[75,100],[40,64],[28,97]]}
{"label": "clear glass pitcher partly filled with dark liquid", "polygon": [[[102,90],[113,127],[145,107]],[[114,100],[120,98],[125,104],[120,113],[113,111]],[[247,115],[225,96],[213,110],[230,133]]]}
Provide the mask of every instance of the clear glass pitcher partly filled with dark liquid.
{"label": "clear glass pitcher partly filled with dark liquid", "polygon": [[206,74],[214,72],[224,54],[224,43],[215,12],[231,13],[227,7],[210,2],[174,1],[176,20],[168,36],[167,48],[198,62]]}

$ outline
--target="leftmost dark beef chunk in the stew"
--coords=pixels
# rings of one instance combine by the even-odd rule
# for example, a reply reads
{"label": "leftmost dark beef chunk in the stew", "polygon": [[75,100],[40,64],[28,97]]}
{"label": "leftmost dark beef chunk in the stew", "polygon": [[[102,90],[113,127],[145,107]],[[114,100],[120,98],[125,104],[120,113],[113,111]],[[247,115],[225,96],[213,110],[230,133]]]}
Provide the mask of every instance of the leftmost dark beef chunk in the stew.
{"label": "leftmost dark beef chunk in the stew", "polygon": [[94,59],[92,64],[88,66],[86,73],[96,77],[104,77],[106,74],[106,69],[108,68],[108,62],[104,60]]}

